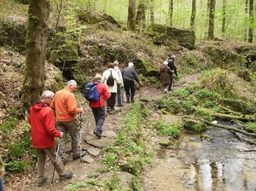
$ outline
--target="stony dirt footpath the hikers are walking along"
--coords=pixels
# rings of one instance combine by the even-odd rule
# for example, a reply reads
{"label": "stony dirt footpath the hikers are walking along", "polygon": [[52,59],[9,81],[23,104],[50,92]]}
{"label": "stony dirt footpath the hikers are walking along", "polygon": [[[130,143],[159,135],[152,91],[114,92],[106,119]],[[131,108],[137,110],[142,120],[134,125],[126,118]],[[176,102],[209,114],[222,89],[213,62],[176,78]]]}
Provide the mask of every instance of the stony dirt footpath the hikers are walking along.
{"label": "stony dirt footpath the hikers are walking along", "polygon": [[[180,78],[174,84],[174,90],[184,88],[190,83],[195,82],[200,78],[200,74],[194,74]],[[157,97],[163,95],[162,90],[157,90],[152,87],[142,87],[140,91],[136,92],[135,100],[141,97],[147,97],[151,99],[156,99]],[[125,98],[125,92],[123,92]],[[131,103],[130,103],[131,104]],[[108,146],[113,142],[113,137],[116,136],[116,132],[120,126],[124,124],[124,119],[128,111],[129,104],[124,103],[124,107],[115,107],[116,111],[113,114],[108,113],[105,123],[103,125],[102,138],[98,139],[93,135],[92,131],[95,128],[95,122],[93,115],[88,106],[83,106],[85,112],[81,116],[77,116],[79,125],[82,125],[82,148],[86,150],[86,155],[80,160],[73,160],[70,142],[67,143],[67,156],[68,162],[65,165],[66,169],[73,170],[73,178],[65,182],[60,182],[58,174],[55,172],[54,181],[51,188],[51,180],[53,174],[53,165],[47,160],[45,165],[45,177],[48,177],[48,181],[45,182],[44,186],[38,188],[37,186],[37,168],[31,174],[27,174],[22,177],[15,177],[14,180],[10,180],[5,184],[5,191],[28,191],[28,190],[67,190],[67,186],[71,185],[73,182],[84,182],[88,178],[98,178],[109,176],[104,172],[105,166],[100,163],[103,150],[102,148]],[[79,132],[79,135],[80,132]],[[148,169],[147,171],[153,171],[153,169]],[[156,175],[157,176],[157,175]],[[122,183],[125,185],[125,181],[130,179],[131,175],[129,173],[124,173],[120,175]],[[11,183],[10,183],[11,182]],[[79,189],[78,189],[79,190]],[[80,189],[82,190],[82,189]],[[98,190],[95,188],[95,190]],[[154,190],[154,189],[153,189]]]}

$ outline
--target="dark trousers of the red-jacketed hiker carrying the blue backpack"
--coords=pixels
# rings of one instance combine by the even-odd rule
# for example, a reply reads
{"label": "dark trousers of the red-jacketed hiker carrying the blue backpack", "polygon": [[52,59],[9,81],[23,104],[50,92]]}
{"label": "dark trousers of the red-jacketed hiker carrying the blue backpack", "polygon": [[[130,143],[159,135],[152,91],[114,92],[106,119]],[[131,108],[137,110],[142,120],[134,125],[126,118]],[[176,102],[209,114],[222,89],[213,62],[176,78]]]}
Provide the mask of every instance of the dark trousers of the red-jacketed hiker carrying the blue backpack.
{"label": "dark trousers of the red-jacketed hiker carrying the blue backpack", "polygon": [[102,133],[102,126],[106,118],[105,107],[91,107],[91,111],[95,119],[95,129]]}

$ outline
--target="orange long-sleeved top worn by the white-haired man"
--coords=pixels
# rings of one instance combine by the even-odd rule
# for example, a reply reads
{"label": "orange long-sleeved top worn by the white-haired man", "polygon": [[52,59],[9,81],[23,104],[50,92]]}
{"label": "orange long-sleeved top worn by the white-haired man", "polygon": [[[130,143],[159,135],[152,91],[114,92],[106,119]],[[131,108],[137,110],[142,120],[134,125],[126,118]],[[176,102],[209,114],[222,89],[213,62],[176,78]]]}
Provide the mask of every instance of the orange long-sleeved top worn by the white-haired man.
{"label": "orange long-sleeved top worn by the white-haired man", "polygon": [[72,121],[75,119],[75,114],[82,113],[82,109],[77,107],[76,98],[68,87],[55,93],[50,107],[56,111],[57,121]]}

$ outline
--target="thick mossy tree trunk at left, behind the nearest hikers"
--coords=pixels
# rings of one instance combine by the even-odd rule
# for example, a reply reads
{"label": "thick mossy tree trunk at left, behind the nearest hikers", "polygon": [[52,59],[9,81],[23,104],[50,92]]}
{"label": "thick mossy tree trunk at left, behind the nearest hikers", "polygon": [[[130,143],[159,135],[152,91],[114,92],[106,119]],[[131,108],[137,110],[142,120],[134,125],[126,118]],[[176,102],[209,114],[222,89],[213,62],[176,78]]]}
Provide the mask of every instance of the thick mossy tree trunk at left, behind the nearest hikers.
{"label": "thick mossy tree trunk at left, behind the nearest hikers", "polygon": [[26,62],[22,83],[21,104],[28,111],[40,99],[44,89],[45,53],[49,23],[49,0],[31,0],[26,29]]}

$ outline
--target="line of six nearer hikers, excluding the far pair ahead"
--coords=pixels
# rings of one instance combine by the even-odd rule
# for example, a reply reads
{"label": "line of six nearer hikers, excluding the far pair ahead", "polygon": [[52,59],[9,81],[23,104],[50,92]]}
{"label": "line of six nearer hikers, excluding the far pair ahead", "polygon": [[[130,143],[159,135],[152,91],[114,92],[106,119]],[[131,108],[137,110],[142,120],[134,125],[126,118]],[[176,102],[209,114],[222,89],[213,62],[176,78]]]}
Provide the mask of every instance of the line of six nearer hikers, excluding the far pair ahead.
{"label": "line of six nearer hikers, excluding the far pair ahead", "polygon": [[[93,133],[102,137],[102,125],[105,121],[105,100],[108,112],[114,111],[115,97],[118,97],[118,106],[122,107],[121,87],[125,87],[126,102],[134,102],[135,84],[140,84],[137,72],[129,62],[121,72],[119,61],[108,63],[108,69],[103,74],[96,73],[94,84],[97,86],[100,98],[90,101],[90,108],[94,115],[96,128]],[[113,85],[108,85],[108,77],[113,76]],[[84,112],[83,107],[77,106],[73,92],[77,89],[75,80],[69,80],[63,90],[56,93],[45,90],[40,101],[35,101],[29,111],[29,124],[31,125],[32,145],[38,153],[38,187],[47,182],[44,176],[46,156],[49,157],[57,171],[60,180],[64,181],[73,177],[73,171],[67,171],[65,164],[68,159],[65,153],[67,133],[71,136],[73,159],[81,159],[85,151],[79,148],[79,125],[76,115]],[[54,113],[55,111],[55,113]],[[56,124],[55,124],[56,119]],[[55,128],[57,125],[57,129]],[[59,137],[57,152],[55,151],[55,137]],[[54,175],[53,175],[54,176]],[[51,184],[53,182],[53,177]]]}

